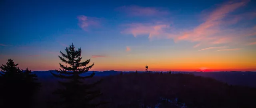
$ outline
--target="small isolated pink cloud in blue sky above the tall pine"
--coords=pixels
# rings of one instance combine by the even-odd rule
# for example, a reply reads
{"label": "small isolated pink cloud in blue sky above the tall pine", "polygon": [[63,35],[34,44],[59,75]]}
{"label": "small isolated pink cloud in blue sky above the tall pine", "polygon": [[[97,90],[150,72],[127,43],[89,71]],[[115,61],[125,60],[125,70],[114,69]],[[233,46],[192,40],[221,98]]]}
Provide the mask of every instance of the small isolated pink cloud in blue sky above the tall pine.
{"label": "small isolated pink cloud in blue sky above the tall pine", "polygon": [[77,18],[78,18],[78,26],[80,26],[80,28],[82,28],[85,31],[88,31],[89,27],[100,26],[100,18],[89,17],[84,15],[77,16]]}

